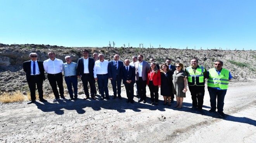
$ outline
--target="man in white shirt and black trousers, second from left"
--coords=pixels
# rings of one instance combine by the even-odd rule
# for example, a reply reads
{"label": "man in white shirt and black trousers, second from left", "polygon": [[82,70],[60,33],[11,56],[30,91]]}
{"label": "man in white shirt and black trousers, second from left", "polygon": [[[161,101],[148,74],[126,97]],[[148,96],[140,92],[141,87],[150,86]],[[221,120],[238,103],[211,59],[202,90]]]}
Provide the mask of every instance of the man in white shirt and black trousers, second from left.
{"label": "man in white shirt and black trousers, second from left", "polygon": [[[64,88],[63,88],[63,77],[62,77],[63,61],[55,58],[55,56],[56,54],[54,52],[49,52],[48,53],[49,59],[43,61],[43,68],[45,69],[45,72],[47,72],[47,77],[55,96],[55,99],[53,100],[53,102],[57,102],[60,99],[60,96],[61,96],[61,100],[65,100]],[[59,87],[59,92],[57,89],[57,85]]]}

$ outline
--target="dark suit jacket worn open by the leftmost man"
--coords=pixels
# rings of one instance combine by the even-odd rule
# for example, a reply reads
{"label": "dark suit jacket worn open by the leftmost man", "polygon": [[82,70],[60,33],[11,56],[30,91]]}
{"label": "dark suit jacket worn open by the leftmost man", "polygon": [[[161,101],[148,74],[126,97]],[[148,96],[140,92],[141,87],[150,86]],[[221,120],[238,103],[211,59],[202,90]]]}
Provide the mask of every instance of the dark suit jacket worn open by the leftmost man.
{"label": "dark suit jacket worn open by the leftmost man", "polygon": [[[45,70],[43,68],[43,61],[38,61],[38,68],[39,68],[39,72],[40,72],[40,77],[45,80]],[[31,60],[29,61],[25,61],[23,63],[23,70],[26,73],[26,80],[27,82],[30,80],[30,75],[31,75]]]}

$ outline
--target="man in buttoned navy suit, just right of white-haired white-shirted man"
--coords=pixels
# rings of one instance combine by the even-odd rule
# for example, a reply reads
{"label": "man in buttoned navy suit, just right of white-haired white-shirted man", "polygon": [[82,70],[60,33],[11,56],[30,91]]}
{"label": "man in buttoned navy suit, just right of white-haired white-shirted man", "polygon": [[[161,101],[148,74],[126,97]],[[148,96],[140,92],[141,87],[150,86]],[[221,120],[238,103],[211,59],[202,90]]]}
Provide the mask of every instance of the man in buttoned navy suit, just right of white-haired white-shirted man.
{"label": "man in buttoned navy suit, just right of white-haired white-shirted man", "polygon": [[[109,74],[109,79],[111,80],[112,89],[114,92],[113,99],[116,99],[116,95],[118,95],[119,99],[122,99],[121,97],[121,68],[124,66],[124,63],[122,61],[119,61],[119,55],[114,55],[114,60],[109,61],[109,65],[107,66],[107,73]],[[117,92],[116,92],[116,86]]]}

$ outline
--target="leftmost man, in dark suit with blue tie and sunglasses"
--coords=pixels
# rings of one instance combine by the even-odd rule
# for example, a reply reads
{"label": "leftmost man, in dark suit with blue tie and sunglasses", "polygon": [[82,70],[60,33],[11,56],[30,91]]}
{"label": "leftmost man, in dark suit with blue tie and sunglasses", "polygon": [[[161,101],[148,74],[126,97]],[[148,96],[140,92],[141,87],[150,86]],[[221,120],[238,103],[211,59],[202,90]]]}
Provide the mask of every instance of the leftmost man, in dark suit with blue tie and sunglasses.
{"label": "leftmost man, in dark suit with blue tie and sunglasses", "polygon": [[29,58],[31,60],[23,63],[23,70],[26,72],[26,80],[30,90],[31,104],[36,101],[36,87],[39,94],[39,101],[46,102],[43,99],[43,80],[45,80],[45,70],[43,69],[43,61],[37,60],[36,53],[30,53]]}

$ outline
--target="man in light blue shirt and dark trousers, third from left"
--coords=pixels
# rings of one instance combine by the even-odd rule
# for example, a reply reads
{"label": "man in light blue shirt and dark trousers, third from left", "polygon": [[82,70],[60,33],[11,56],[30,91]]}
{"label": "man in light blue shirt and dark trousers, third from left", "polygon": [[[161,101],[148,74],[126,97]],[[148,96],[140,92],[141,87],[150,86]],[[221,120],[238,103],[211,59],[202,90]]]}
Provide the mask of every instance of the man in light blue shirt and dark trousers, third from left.
{"label": "man in light blue shirt and dark trousers, third from left", "polygon": [[[67,84],[67,90],[69,93],[70,98],[68,100],[77,100],[77,77],[76,77],[76,67],[77,63],[72,62],[71,56],[65,57],[66,63],[63,64],[63,71],[65,75],[65,82]],[[74,88],[74,96],[73,96],[73,90],[72,85]]]}

